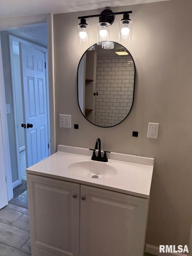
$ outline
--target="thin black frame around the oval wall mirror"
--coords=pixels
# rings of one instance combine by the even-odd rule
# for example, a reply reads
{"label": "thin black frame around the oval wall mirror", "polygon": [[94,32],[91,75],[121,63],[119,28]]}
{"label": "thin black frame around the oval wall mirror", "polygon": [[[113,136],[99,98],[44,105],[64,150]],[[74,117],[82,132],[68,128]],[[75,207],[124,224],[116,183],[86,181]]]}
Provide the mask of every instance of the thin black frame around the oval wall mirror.
{"label": "thin black frame around the oval wall mirror", "polygon": [[[114,42],[114,41],[111,41],[111,42],[113,42],[113,43],[116,43],[116,44],[119,44],[119,43],[117,43],[117,42]],[[94,46],[94,45],[96,45],[96,44],[93,44],[93,45],[91,45],[89,48],[91,48],[92,46]],[[122,46],[123,48],[125,48],[125,46],[123,46],[122,44],[119,44],[120,46]],[[89,49],[88,48],[88,49]],[[82,57],[81,57],[81,59],[80,59],[80,61],[79,61],[79,64],[78,64],[78,67],[77,67],[77,102],[78,102],[78,106],[79,106],[79,89],[78,89],[78,71],[79,71],[79,65],[80,65],[80,62],[81,62],[81,60],[82,60],[82,58],[83,58],[83,56],[84,56],[84,54],[88,51],[88,49],[83,53],[83,55],[82,55]],[[126,48],[125,48],[126,49]],[[133,63],[134,63],[134,86],[133,86],[133,102],[132,102],[132,105],[131,105],[131,109],[129,110],[129,113],[131,112],[131,110],[132,110],[132,107],[133,107],[133,104],[134,104],[134,94],[135,94],[135,73],[136,73],[136,68],[135,68],[135,62],[134,62],[134,59],[133,59],[133,57],[132,57],[132,55],[131,55],[131,53],[126,49],[126,51],[130,54],[130,56],[131,56],[131,58],[132,58],[132,60],[133,60]],[[80,108],[80,106],[79,106],[79,110],[81,111],[81,108]],[[81,113],[82,113],[82,111],[81,111]],[[119,125],[119,124],[121,124],[127,117],[128,117],[128,115],[129,115],[129,113],[127,114],[127,116],[125,116],[125,118],[121,121],[121,122],[119,122],[118,124],[115,124],[115,125],[113,125],[113,126],[100,126],[100,125],[95,125],[94,123],[92,123],[92,122],[90,122],[88,119],[86,119],[86,117],[84,116],[84,114],[82,113],[82,115],[84,116],[84,118],[89,122],[89,123],[91,123],[92,125],[95,125],[95,126],[97,126],[97,127],[101,127],[101,128],[111,128],[111,127],[114,127],[114,126],[116,126],[116,125]]]}

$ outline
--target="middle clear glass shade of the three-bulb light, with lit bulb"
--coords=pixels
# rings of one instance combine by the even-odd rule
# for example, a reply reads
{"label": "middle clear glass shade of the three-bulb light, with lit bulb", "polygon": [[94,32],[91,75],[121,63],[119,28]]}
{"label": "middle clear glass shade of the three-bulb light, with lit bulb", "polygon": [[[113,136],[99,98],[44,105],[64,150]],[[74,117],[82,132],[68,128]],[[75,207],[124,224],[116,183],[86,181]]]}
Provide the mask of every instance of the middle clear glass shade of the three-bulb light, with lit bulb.
{"label": "middle clear glass shade of the three-bulb light, with lit bulb", "polygon": [[102,45],[103,42],[110,41],[110,23],[100,22],[97,26],[97,44]]}

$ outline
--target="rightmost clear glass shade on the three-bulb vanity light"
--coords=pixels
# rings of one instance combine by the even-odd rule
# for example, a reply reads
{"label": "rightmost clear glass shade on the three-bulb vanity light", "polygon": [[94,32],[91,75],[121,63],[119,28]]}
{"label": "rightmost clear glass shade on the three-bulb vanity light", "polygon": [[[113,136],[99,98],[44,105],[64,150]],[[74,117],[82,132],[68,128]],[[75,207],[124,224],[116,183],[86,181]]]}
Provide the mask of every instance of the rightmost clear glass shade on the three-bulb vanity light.
{"label": "rightmost clear glass shade on the three-bulb vanity light", "polygon": [[133,22],[131,20],[121,20],[119,22],[119,40],[120,44],[131,44]]}

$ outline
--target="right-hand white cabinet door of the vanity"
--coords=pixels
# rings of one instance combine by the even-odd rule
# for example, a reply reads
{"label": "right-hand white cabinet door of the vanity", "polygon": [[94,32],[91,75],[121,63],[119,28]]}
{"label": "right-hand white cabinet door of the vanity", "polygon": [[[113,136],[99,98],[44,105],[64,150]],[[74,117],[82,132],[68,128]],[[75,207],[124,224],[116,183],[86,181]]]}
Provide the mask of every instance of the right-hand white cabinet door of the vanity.
{"label": "right-hand white cabinet door of the vanity", "polygon": [[142,256],[148,200],[81,185],[80,256]]}

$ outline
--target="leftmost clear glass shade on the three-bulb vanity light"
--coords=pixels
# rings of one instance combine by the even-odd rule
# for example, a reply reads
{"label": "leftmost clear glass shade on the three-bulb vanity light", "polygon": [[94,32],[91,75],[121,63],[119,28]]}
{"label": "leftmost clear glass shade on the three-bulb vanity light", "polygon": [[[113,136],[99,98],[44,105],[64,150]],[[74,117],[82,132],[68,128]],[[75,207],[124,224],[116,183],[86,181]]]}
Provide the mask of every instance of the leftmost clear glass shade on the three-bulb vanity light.
{"label": "leftmost clear glass shade on the three-bulb vanity light", "polygon": [[89,46],[89,26],[88,25],[77,26],[77,45]]}

